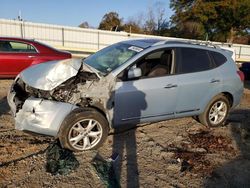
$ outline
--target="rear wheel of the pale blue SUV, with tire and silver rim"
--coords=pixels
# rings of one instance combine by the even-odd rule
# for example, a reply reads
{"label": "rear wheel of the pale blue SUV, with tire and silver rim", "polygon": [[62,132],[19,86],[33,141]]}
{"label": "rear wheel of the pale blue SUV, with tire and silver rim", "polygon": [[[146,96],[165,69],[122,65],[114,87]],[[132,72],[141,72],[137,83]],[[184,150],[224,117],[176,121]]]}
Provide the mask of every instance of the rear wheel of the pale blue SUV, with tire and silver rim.
{"label": "rear wheel of the pale blue SUV, with tire and silver rim", "polygon": [[[218,105],[222,105],[222,106],[218,106]],[[219,107],[222,108],[221,111],[218,111]],[[217,111],[215,109],[217,109]],[[230,109],[230,105],[229,105],[228,98],[223,94],[217,95],[209,102],[209,104],[205,108],[205,111],[201,115],[198,116],[198,120],[201,124],[205,126],[209,126],[209,127],[221,126],[226,121],[229,109]],[[215,116],[217,116],[217,118]]]}

